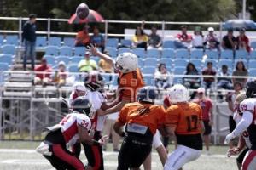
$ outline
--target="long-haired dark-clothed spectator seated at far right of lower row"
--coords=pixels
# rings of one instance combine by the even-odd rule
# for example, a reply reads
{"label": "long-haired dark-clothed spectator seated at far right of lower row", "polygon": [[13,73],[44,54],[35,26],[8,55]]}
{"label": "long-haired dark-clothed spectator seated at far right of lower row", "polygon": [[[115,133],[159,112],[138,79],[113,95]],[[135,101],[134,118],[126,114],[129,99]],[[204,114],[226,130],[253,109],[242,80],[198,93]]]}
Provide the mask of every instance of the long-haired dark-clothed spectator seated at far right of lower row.
{"label": "long-haired dark-clothed spectator seated at far right of lower row", "polygon": [[[242,61],[238,61],[236,63],[236,71],[233,71],[232,76],[238,76],[238,77],[248,76],[248,71]],[[233,78],[232,82],[233,84],[235,84],[235,82],[241,82],[242,87],[244,87],[247,82],[247,78]]]}

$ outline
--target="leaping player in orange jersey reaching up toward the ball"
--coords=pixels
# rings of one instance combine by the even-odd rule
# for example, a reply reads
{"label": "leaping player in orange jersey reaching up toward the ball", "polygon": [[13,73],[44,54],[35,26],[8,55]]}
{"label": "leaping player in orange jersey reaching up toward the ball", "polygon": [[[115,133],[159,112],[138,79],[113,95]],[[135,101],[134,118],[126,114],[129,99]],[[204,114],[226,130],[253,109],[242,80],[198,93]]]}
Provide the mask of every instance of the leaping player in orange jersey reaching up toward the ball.
{"label": "leaping player in orange jersey reaching up toward the ball", "polygon": [[119,72],[118,96],[111,103],[108,103],[108,106],[97,110],[97,114],[102,116],[115,113],[120,111],[125,104],[134,102],[137,90],[144,86],[143,76],[138,68],[137,56],[132,53],[123,53],[119,54],[117,59],[113,61],[108,55],[99,52],[96,47],[90,47],[90,53],[111,63]]}

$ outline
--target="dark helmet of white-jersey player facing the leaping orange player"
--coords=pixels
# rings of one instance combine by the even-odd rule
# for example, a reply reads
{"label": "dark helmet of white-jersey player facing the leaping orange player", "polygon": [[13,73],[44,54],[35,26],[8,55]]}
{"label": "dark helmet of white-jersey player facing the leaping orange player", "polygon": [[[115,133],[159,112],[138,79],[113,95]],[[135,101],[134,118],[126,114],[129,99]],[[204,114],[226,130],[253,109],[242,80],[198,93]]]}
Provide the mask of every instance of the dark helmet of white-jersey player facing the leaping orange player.
{"label": "dark helmet of white-jersey player facing the leaping orange player", "polygon": [[104,89],[104,79],[97,71],[91,71],[84,78],[84,86],[91,91],[99,91]]}

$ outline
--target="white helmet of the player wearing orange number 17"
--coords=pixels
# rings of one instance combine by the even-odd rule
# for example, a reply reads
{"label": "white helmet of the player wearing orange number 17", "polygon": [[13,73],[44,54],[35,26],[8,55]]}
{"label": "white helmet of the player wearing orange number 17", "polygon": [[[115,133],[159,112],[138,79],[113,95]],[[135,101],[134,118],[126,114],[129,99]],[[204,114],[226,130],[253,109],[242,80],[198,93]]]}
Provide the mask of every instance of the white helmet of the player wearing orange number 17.
{"label": "white helmet of the player wearing orange number 17", "polygon": [[176,84],[170,88],[169,97],[172,103],[189,101],[189,90],[182,84]]}

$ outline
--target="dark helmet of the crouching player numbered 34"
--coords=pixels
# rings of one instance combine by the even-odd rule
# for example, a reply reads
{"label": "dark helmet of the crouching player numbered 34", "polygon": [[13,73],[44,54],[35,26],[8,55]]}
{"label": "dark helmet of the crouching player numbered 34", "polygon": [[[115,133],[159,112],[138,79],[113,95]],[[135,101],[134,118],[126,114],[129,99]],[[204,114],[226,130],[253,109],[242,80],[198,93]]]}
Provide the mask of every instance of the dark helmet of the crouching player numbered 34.
{"label": "dark helmet of the crouching player numbered 34", "polygon": [[89,117],[92,116],[92,104],[89,99],[85,99],[84,96],[74,99],[71,106],[73,111],[78,111]]}

